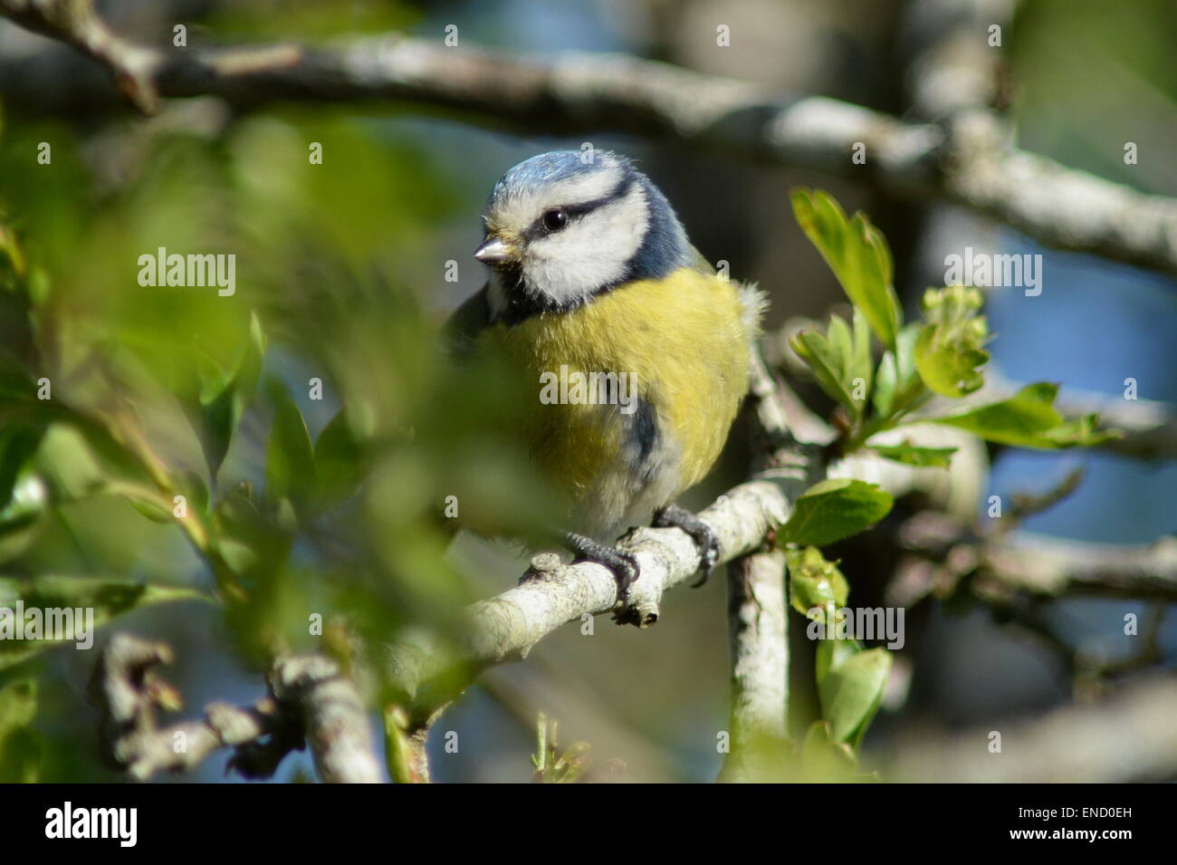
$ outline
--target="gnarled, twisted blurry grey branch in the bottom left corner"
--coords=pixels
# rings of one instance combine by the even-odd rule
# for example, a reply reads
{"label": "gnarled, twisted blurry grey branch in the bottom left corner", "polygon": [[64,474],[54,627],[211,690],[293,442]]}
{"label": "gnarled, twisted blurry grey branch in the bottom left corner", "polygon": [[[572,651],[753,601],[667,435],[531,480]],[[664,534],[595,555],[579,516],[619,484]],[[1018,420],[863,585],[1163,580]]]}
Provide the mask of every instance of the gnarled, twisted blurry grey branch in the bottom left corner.
{"label": "gnarled, twisted blurry grey branch in the bottom left corner", "polygon": [[159,708],[179,707],[179,694],[155,668],[172,660],[162,643],[127,633],[111,638],[91,679],[91,699],[102,713],[104,745],[135,780],[160,771],[188,772],[221,747],[233,747],[230,767],[267,778],[292,750],[311,744],[327,783],[378,783],[364,704],[355,685],[321,656],[274,661],[270,694],[248,706],[214,703],[200,720],[160,727]]}

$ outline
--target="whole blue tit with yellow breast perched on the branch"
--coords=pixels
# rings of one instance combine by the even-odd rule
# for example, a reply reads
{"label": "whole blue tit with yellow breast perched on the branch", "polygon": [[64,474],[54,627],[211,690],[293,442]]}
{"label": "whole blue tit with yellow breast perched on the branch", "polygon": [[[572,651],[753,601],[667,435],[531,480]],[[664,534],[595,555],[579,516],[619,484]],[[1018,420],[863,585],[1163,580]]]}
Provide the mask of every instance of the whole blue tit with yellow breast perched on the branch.
{"label": "whole blue tit with yellow breast perched on the branch", "polygon": [[[711,470],[747,392],[760,293],[717,275],[666,197],[616,153],[520,162],[483,224],[474,257],[491,277],[447,333],[459,354],[493,353],[540,391],[518,431],[566,497],[565,545],[624,593],[638,563],[605,541],[652,519],[694,538],[705,575],[718,540],[674,499]],[[544,399],[548,385],[559,399]]]}

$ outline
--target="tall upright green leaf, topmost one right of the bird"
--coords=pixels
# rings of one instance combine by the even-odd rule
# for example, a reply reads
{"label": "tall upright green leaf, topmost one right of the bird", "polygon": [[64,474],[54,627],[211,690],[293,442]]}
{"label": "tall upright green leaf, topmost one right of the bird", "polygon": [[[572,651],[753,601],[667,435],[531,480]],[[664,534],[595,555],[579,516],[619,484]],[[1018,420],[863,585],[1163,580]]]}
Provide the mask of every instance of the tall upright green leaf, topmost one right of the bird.
{"label": "tall upright green leaf, topmost one right of the bird", "polygon": [[793,214],[833,271],[850,302],[860,310],[887,348],[895,348],[902,324],[899,299],[891,285],[893,265],[883,233],[863,213],[845,212],[822,189],[794,189]]}

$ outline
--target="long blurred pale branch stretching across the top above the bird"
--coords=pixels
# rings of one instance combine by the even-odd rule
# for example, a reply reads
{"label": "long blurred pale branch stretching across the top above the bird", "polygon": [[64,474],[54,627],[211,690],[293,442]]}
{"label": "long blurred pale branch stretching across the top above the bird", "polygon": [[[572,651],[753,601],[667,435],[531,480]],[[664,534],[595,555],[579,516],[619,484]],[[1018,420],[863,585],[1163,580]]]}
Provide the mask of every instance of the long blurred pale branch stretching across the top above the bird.
{"label": "long blurred pale branch stretching across the top above the bird", "polygon": [[[144,93],[213,94],[241,108],[275,100],[398,100],[531,134],[673,138],[867,180],[898,194],[956,201],[1050,246],[1177,273],[1177,201],[1020,151],[983,109],[938,124],[905,124],[833,99],[782,99],[747,82],[620,54],[528,60],[407,38],[321,49],[149,48],[104,35],[85,0],[0,0],[0,12],[80,46],[117,75],[134,71],[139,78],[132,80]],[[5,73],[6,91],[19,84],[12,80],[16,74]],[[151,107],[151,99],[137,104]],[[859,144],[866,162],[855,165]]]}

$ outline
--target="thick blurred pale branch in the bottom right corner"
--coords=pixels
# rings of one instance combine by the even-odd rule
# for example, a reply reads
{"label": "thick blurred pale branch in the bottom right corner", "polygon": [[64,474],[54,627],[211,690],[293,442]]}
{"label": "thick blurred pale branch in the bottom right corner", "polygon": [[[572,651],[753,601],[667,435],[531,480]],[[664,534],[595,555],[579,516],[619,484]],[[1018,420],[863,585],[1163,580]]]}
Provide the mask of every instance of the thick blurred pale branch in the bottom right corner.
{"label": "thick blurred pale branch in the bottom right corner", "polygon": [[[884,772],[897,781],[1118,783],[1177,777],[1177,679],[1125,686],[1097,705],[1066,706],[1032,721],[949,737],[902,740]],[[989,746],[1002,734],[1000,752]]]}

